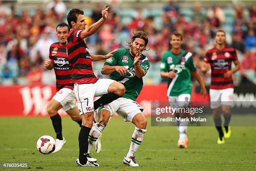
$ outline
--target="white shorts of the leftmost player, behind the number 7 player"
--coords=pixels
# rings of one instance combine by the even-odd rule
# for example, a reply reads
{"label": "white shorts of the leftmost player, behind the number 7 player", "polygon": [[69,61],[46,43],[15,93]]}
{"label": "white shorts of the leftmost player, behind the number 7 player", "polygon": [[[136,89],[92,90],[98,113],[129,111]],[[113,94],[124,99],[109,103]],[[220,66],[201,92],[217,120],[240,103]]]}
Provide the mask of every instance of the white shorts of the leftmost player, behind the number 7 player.
{"label": "white shorts of the leftmost player, behind the number 7 player", "polygon": [[68,111],[77,106],[74,90],[70,88],[61,88],[54,95],[53,99],[61,103],[64,111]]}

